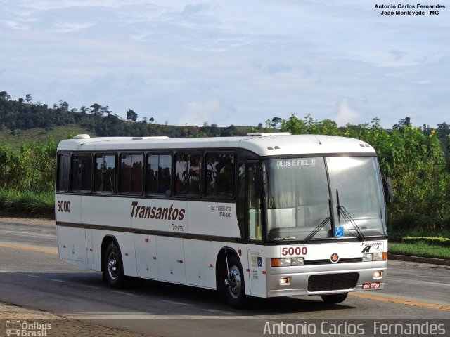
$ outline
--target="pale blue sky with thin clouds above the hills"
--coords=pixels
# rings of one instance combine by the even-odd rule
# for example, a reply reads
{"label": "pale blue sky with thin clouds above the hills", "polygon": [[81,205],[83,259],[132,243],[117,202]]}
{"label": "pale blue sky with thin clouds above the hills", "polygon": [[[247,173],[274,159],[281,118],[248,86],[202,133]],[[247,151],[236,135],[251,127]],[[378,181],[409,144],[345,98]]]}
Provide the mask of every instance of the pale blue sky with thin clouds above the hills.
{"label": "pale blue sky with thin clouds above the hills", "polygon": [[[381,15],[376,4],[445,8]],[[0,6],[0,91],[11,100],[98,103],[123,119],[132,109],[138,121],[192,126],[257,126],[291,114],[339,126],[375,117],[385,128],[405,117],[450,124],[450,0]]]}

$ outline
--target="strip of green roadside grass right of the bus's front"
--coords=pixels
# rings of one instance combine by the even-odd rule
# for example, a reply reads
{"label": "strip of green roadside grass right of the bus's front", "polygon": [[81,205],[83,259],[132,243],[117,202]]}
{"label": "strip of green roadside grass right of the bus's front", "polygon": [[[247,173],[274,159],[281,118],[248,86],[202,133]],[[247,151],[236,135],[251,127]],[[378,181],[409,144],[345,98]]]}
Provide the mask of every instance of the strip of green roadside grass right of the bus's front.
{"label": "strip of green roadside grass right of the bus's front", "polygon": [[422,256],[425,258],[450,259],[450,248],[437,244],[418,241],[413,244],[405,242],[389,242],[389,253],[408,256]]}

